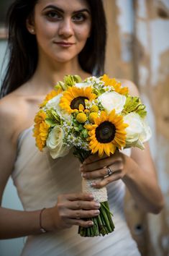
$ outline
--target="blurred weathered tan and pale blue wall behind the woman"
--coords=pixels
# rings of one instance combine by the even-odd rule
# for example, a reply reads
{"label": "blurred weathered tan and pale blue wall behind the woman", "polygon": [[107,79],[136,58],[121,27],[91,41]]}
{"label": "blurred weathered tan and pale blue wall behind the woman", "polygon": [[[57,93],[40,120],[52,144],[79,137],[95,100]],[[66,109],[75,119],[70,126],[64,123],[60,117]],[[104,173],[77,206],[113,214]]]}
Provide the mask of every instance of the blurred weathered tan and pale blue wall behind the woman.
{"label": "blurred weathered tan and pale blue wall behind the woman", "polygon": [[[0,2],[3,27],[6,6]],[[145,214],[126,194],[125,211],[129,227],[142,256],[169,255],[169,0],[103,0],[108,23],[106,73],[136,83],[147,106],[152,128],[150,149],[157,179],[165,197],[158,215]],[[0,67],[6,40],[0,29]],[[2,72],[3,74],[3,72]],[[1,76],[2,76],[1,74]],[[10,179],[3,206],[22,209]],[[0,241],[1,256],[18,256],[24,239]]]}

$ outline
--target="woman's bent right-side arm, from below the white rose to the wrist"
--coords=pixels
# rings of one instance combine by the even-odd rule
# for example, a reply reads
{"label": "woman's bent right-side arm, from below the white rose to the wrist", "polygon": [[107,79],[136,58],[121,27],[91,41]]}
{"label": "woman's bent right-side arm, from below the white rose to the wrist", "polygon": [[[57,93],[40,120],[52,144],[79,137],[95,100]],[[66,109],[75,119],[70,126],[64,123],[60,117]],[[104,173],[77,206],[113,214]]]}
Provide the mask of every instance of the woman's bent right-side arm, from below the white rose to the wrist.
{"label": "woman's bent right-side arm, from below the white rose to the wrist", "polygon": [[157,183],[155,166],[148,143],[145,150],[134,148],[125,164],[127,171],[122,178],[142,210],[159,213],[164,205],[163,195]]}

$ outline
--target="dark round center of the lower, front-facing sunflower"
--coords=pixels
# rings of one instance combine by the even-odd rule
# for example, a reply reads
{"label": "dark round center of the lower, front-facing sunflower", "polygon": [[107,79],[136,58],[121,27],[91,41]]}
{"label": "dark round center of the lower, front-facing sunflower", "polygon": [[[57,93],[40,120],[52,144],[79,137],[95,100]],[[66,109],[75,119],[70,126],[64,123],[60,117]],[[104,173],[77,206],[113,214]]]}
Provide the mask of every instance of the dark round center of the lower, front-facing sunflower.
{"label": "dark round center of the lower, front-facing sunflower", "polygon": [[96,128],[96,139],[101,143],[109,143],[114,140],[116,127],[109,121],[104,121]]}

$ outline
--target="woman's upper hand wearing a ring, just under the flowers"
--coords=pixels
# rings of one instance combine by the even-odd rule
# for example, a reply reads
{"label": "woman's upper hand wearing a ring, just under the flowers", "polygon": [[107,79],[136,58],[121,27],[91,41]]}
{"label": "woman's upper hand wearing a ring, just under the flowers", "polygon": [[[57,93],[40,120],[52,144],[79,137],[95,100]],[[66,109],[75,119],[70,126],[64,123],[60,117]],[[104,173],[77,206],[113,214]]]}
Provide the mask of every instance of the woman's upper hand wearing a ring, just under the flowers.
{"label": "woman's upper hand wearing a ring, just under the flowers", "polygon": [[[126,174],[127,156],[119,151],[108,157],[104,155],[99,158],[97,154],[89,156],[81,165],[82,176],[85,179],[98,179],[99,182],[93,182],[93,187],[101,188],[107,184],[122,179]],[[109,168],[108,168],[109,167]]]}

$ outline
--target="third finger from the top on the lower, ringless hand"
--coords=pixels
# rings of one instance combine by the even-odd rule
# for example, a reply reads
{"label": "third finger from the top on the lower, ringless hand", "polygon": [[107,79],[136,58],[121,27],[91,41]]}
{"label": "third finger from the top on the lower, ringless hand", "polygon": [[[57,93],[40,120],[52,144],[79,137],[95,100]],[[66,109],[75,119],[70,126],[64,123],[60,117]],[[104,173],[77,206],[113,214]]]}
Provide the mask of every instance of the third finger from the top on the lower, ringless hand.
{"label": "third finger from the top on the lower, ringless hand", "polygon": [[99,216],[99,210],[68,210],[67,216],[68,218],[93,218]]}

